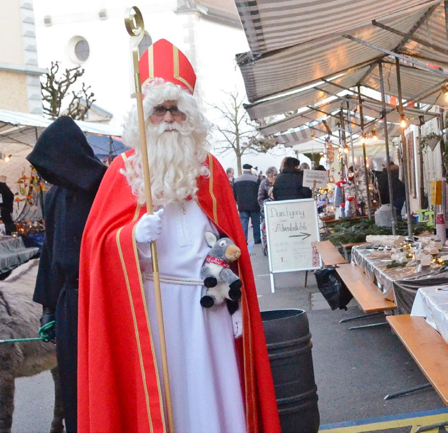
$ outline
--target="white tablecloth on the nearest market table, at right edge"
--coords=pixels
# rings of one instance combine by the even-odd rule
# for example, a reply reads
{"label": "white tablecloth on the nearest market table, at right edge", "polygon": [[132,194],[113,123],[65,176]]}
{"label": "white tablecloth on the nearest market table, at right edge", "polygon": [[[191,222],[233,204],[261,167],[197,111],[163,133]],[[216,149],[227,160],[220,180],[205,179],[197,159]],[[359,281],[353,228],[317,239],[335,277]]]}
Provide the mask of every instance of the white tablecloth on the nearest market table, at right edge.
{"label": "white tablecloth on the nearest market table, at right edge", "polygon": [[448,286],[421,287],[412,304],[411,316],[426,317],[448,344]]}

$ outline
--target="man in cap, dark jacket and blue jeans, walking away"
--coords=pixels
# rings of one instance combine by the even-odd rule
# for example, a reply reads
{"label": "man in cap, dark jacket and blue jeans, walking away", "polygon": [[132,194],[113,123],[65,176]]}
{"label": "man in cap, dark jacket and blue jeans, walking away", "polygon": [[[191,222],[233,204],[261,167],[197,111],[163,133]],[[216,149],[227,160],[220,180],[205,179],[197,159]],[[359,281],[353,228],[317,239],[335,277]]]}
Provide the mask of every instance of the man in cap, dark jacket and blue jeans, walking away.
{"label": "man in cap, dark jacket and blue jeans, walking away", "polygon": [[261,243],[260,207],[258,205],[258,177],[253,175],[251,164],[243,165],[243,174],[235,179],[233,194],[238,205],[244,236],[248,240],[249,218],[252,221],[254,243]]}

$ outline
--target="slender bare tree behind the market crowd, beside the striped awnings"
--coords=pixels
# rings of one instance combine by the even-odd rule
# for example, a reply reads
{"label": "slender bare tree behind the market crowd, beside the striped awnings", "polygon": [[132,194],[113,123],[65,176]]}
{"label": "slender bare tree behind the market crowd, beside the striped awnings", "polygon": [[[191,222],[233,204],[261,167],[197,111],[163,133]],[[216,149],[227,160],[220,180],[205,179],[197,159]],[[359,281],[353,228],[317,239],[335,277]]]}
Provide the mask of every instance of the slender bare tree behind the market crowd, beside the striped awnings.
{"label": "slender bare tree behind the market crowd, beside the striped awnings", "polygon": [[221,106],[209,104],[219,111],[223,120],[222,124],[214,125],[222,137],[215,151],[218,154],[235,152],[238,174],[241,174],[241,157],[244,153],[266,153],[275,147],[276,142],[262,137],[256,130],[255,122],[250,120],[243,107],[244,98],[240,97],[237,90],[223,93],[226,98]]}

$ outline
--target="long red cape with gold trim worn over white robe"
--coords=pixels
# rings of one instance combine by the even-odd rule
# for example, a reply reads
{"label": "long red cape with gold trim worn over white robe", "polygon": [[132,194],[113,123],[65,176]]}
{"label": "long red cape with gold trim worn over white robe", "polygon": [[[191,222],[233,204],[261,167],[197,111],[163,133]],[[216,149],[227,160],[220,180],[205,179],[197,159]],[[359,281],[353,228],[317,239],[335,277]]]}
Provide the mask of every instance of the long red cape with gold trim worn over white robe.
{"label": "long red cape with gold trim worn over white robe", "polygon": [[[133,150],[106,171],[81,244],[78,324],[78,431],[166,432],[160,382],[133,228],[146,208],[120,169]],[[227,175],[208,154],[210,177],[199,177],[197,202],[241,248],[243,338],[237,344],[248,432],[280,432],[252,266]],[[198,306],[200,308],[200,306]],[[238,342],[237,342],[238,343]],[[161,378],[160,378],[161,380]],[[232,416],[232,414],[228,414]]]}

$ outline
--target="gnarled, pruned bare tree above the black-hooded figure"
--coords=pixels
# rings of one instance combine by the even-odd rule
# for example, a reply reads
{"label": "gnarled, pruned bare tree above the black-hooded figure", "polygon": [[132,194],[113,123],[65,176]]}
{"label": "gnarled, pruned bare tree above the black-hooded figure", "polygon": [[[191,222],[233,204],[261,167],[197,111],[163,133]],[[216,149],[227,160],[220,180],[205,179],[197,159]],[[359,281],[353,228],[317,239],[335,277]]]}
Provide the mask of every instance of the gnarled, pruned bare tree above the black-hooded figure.
{"label": "gnarled, pruned bare tree above the black-hooded figure", "polygon": [[59,64],[60,62],[52,62],[50,71],[45,74],[45,81],[41,81],[44,113],[54,118],[59,117],[64,98],[71,94],[67,115],[72,119],[83,120],[96,100],[93,92],[89,91],[90,86],[86,86],[84,82],[81,90],[72,90],[72,85],[84,74],[84,70],[77,66],[65,69],[65,72],[60,74]]}

